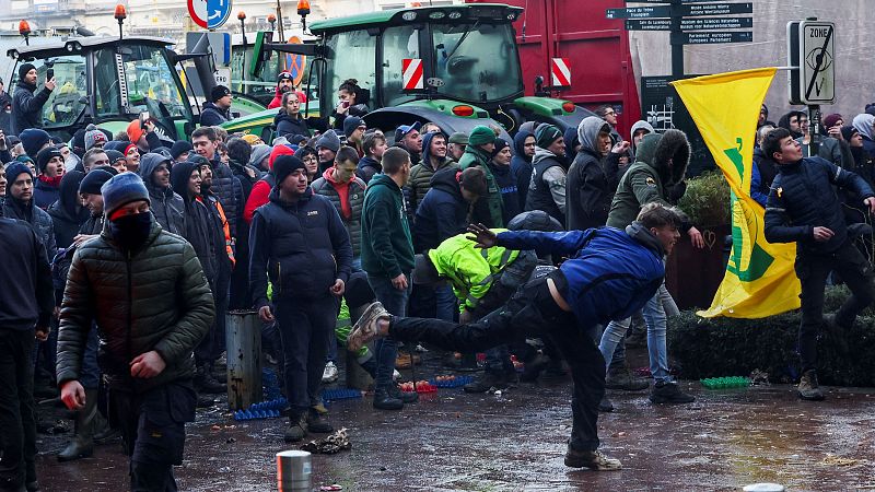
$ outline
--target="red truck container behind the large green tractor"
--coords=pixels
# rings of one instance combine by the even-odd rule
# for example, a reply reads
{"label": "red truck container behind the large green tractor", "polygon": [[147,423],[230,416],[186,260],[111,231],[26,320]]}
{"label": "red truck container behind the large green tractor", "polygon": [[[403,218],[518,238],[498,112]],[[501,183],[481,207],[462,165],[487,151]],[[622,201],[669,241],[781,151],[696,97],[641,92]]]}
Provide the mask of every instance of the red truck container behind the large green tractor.
{"label": "red truck container behind the large green tractor", "polygon": [[571,86],[551,94],[588,109],[612,104],[619,114],[620,134],[628,139],[629,128],[641,119],[629,36],[622,21],[605,17],[606,9],[623,8],[626,3],[622,0],[503,0],[503,3],[525,9],[514,27],[526,95],[534,95],[538,75],[549,85],[551,59],[564,58],[571,71]]}

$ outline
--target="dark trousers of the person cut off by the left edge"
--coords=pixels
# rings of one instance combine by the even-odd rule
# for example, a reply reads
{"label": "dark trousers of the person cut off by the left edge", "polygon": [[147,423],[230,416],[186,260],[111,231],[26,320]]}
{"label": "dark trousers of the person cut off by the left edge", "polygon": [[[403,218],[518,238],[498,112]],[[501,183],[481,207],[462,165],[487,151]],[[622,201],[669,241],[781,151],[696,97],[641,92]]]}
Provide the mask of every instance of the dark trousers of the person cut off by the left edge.
{"label": "dark trousers of the person cut off by the left edge", "polygon": [[34,330],[0,328],[0,490],[36,480]]}

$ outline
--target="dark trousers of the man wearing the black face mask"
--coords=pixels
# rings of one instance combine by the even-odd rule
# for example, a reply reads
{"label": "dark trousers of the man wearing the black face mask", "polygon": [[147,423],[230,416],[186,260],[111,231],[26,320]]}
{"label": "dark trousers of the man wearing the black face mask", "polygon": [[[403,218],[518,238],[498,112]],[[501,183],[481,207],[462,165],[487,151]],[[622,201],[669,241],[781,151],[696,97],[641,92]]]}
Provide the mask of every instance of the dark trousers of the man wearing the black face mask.
{"label": "dark trousers of the man wearing the black face mask", "polygon": [[195,420],[197,397],[190,380],[143,394],[109,390],[112,418],[130,456],[130,490],[176,491],[173,466],[183,464],[185,423]]}

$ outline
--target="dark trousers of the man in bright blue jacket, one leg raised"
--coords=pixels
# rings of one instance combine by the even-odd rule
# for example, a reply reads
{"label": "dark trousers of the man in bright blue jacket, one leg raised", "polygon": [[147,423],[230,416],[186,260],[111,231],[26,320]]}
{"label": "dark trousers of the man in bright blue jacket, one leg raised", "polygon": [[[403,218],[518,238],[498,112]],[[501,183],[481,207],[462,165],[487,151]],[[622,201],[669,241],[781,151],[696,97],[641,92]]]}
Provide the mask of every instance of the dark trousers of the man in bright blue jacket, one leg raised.
{"label": "dark trousers of the man in bright blue jacket, one leg raised", "polygon": [[[562,292],[562,273],[556,271],[550,278]],[[560,309],[550,295],[547,279],[539,278],[525,283],[504,306],[478,321],[458,325],[440,319],[394,317],[389,337],[421,340],[444,350],[464,352],[518,342],[526,336],[546,337],[565,359],[574,382],[569,446],[594,450],[598,448],[598,402],[605,395],[605,361],[593,341],[591,328]]]}

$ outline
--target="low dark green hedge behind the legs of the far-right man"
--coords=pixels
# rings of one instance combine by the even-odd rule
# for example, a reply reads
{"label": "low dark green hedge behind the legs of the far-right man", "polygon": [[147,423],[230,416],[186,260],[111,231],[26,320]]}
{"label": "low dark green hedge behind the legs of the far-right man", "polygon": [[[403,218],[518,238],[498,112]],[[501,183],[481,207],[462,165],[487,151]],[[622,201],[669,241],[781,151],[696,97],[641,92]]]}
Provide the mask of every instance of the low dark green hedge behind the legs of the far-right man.
{"label": "low dark green hedge behind the legs of the far-right man", "polygon": [[[848,297],[844,288],[827,290],[825,313],[832,313]],[[763,319],[700,318],[682,312],[668,323],[668,353],[680,376],[690,379],[746,376],[767,372],[772,383],[798,379],[798,311]],[[849,351],[842,353],[833,338],[821,330],[818,341],[818,377],[832,386],[875,386],[875,311],[867,308],[847,333]]]}

